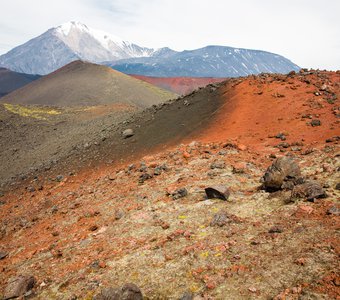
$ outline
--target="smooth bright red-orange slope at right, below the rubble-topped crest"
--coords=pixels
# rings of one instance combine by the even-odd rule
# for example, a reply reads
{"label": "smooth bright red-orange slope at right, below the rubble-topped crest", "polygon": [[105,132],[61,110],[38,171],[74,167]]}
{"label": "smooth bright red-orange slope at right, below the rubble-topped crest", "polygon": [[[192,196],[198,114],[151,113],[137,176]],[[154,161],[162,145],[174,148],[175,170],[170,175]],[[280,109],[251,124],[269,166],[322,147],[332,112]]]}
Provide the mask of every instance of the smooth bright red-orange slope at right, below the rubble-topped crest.
{"label": "smooth bright red-orange slope at right, below the rubble-topped crest", "polygon": [[[288,143],[324,143],[340,135],[335,99],[339,72],[307,72],[295,76],[264,75],[222,87],[224,104],[196,138],[202,142],[236,140],[265,149],[284,133]],[[320,126],[311,126],[319,120]]]}

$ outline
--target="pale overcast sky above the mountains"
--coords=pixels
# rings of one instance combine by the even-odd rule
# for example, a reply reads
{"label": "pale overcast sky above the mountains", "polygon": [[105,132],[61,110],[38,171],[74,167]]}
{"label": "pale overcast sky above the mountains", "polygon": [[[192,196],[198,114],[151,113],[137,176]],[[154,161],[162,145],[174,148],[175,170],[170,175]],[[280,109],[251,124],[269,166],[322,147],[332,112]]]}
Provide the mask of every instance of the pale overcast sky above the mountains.
{"label": "pale overcast sky above the mountains", "polygon": [[1,0],[0,54],[68,21],[147,47],[261,49],[340,69],[339,0]]}

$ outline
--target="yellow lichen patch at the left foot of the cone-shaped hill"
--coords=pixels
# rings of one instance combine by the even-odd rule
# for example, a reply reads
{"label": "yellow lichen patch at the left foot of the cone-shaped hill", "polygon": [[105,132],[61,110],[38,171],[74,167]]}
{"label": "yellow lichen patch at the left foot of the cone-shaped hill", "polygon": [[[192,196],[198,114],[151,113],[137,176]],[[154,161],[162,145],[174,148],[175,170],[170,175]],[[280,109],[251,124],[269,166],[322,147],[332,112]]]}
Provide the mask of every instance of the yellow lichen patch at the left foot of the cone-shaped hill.
{"label": "yellow lichen patch at the left foot of the cone-shaped hill", "polygon": [[48,116],[51,115],[59,115],[61,114],[60,111],[52,108],[47,107],[37,107],[37,106],[23,106],[19,104],[9,104],[5,103],[4,107],[17,115],[20,115],[22,117],[30,117],[38,120],[47,120]]}

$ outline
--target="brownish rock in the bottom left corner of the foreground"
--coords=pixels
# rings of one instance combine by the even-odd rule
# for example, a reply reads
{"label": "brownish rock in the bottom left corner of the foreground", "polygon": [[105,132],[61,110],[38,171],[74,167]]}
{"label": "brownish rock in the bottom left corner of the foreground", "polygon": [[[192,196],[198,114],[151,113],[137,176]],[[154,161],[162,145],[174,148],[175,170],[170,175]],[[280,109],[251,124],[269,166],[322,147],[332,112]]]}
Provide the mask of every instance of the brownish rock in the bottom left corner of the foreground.
{"label": "brownish rock in the bottom left corner of the foreground", "polygon": [[3,299],[14,299],[25,295],[31,289],[33,289],[36,280],[33,276],[19,275],[9,280]]}

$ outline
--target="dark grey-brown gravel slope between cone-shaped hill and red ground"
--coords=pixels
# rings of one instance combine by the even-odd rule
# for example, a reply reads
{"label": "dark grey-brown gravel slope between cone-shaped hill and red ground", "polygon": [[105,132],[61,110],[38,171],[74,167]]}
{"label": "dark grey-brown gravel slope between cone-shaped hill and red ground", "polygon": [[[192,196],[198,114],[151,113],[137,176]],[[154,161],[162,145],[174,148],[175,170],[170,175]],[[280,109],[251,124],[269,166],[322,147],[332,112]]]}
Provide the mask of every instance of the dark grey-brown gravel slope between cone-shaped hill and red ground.
{"label": "dark grey-brown gravel slope between cone-shaped hill and red ground", "polygon": [[[210,87],[187,96],[185,103],[179,98],[132,116],[136,108],[126,105],[56,110],[0,104],[0,184],[41,170],[64,173],[165,147],[205,127],[221,105],[218,93]],[[122,131],[130,126],[136,134],[125,140]]]}

